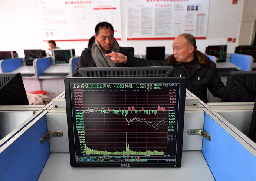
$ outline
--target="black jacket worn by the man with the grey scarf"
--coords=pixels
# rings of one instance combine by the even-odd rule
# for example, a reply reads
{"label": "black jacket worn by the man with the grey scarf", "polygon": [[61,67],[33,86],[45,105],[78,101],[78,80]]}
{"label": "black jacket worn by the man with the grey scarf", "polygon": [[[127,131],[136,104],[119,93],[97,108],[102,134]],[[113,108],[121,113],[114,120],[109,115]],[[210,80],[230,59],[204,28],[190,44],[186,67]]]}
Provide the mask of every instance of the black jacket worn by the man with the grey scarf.
{"label": "black jacket worn by the man with the grey scarf", "polygon": [[[79,68],[81,68],[81,67],[97,67],[95,62],[93,61],[92,52],[91,52],[91,48],[92,48],[94,41],[95,41],[95,38],[93,36],[89,40],[88,48],[86,48],[85,50],[82,51],[82,54],[79,57],[78,63],[76,64],[73,77],[81,77],[81,75],[78,72]],[[128,57],[128,50],[126,48],[120,47],[120,53],[122,53]],[[126,64],[126,65],[118,64],[118,67],[124,67],[124,66],[129,66],[129,65],[128,64]]]}

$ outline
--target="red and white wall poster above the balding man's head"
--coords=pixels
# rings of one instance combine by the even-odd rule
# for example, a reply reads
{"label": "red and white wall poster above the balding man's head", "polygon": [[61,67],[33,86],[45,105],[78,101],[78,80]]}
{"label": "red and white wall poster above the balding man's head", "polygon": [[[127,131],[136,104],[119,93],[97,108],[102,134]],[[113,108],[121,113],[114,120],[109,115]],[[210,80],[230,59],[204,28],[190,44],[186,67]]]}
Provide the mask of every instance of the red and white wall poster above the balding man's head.
{"label": "red and white wall poster above the balding man's head", "polygon": [[127,40],[205,39],[210,0],[126,0]]}

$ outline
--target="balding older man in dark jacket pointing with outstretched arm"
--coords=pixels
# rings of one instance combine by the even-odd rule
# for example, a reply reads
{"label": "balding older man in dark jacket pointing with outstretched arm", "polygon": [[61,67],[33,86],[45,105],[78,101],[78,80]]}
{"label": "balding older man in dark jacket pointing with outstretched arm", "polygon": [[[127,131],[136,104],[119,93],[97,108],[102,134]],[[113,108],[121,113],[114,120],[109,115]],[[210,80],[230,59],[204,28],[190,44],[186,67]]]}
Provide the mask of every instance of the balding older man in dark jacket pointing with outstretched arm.
{"label": "balding older man in dark jacket pointing with outstretched arm", "polygon": [[173,41],[173,55],[166,60],[134,61],[121,53],[109,53],[115,63],[129,66],[173,66],[175,77],[186,77],[186,88],[200,100],[207,103],[207,88],[219,98],[222,97],[224,84],[216,70],[216,64],[205,54],[195,49],[196,40],[191,34],[180,34]]}

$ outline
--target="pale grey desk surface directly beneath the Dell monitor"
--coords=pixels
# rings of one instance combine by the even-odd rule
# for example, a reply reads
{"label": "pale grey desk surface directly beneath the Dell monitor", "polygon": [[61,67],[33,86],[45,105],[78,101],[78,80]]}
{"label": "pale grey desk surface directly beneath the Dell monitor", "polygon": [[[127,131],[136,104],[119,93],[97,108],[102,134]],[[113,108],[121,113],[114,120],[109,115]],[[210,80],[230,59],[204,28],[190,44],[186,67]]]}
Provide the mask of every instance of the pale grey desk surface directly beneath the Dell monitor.
{"label": "pale grey desk surface directly beneath the Dell monitor", "polygon": [[202,180],[214,177],[201,151],[183,151],[181,168],[71,167],[69,152],[52,152],[39,181],[165,181]]}

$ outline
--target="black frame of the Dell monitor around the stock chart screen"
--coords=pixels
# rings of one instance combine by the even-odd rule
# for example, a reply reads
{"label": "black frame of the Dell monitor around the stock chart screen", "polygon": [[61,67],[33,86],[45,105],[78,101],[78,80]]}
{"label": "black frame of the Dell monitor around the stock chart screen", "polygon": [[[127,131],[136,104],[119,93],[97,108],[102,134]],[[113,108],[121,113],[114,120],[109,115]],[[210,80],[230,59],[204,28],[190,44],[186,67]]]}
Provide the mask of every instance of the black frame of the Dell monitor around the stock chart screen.
{"label": "black frame of the Dell monitor around the stock chart screen", "polygon": [[129,167],[181,167],[182,145],[183,145],[183,129],[184,129],[184,111],[185,111],[185,94],[186,94],[186,78],[184,77],[145,77],[145,78],[86,78],[86,77],[70,77],[65,78],[65,98],[66,98],[66,111],[68,121],[68,137],[69,137],[69,152],[70,152],[70,165],[72,167],[121,167],[120,163],[80,163],[75,162],[75,143],[73,132],[73,117],[71,107],[71,83],[181,83],[180,85],[180,103],[179,103],[179,122],[177,126],[177,162],[170,163],[129,163]]}

